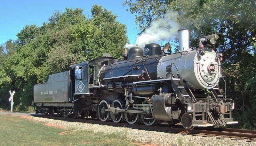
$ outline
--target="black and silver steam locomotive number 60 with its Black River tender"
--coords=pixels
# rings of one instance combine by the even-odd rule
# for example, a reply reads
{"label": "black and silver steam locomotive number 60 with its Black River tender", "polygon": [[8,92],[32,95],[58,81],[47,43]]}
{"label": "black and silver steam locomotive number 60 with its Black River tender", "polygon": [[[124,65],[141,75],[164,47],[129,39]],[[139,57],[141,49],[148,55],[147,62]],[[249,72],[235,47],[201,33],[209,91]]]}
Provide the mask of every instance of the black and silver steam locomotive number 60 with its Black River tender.
{"label": "black and silver steam locomotive number 60 with its Black River tender", "polygon": [[[123,59],[105,57],[70,66],[34,86],[36,113],[91,117],[129,124],[156,122],[186,129],[235,124],[234,101],[218,88],[222,54],[213,50],[218,35],[200,38],[200,48],[189,47],[189,31],[179,30],[180,52],[147,44],[125,51]],[[82,79],[75,78],[76,66]],[[205,90],[211,94],[205,94]]]}

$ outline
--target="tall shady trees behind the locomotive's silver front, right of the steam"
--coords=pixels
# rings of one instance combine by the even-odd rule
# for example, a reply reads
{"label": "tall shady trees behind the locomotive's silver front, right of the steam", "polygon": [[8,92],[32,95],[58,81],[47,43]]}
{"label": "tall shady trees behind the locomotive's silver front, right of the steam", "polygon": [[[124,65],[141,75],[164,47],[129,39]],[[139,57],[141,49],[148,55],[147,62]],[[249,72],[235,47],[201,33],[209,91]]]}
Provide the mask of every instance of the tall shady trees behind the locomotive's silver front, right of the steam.
{"label": "tall shady trees behind the locomotive's silver front, right of the steam", "polygon": [[[125,0],[135,14],[141,33],[168,10],[177,11],[180,25],[191,32],[190,46],[198,37],[216,33],[216,48],[223,53],[227,94],[235,101],[234,118],[242,128],[256,126],[256,1],[255,0]],[[220,86],[224,89],[221,80]]]}

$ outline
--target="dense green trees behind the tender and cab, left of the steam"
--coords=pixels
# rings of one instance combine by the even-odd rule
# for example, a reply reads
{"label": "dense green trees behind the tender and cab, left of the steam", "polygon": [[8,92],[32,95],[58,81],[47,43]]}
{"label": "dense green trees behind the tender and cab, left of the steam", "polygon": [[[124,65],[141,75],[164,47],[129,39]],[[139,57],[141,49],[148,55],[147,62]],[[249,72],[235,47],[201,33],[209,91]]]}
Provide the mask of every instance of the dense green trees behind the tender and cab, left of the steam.
{"label": "dense green trees behind the tender and cab, left of the steam", "polygon": [[29,110],[33,106],[34,85],[46,81],[49,74],[102,57],[102,52],[120,58],[127,42],[126,26],[99,5],[92,7],[92,16],[86,18],[78,8],[55,11],[49,23],[26,26],[17,34],[17,41],[2,45],[0,106],[9,107],[6,100],[11,89],[16,92],[14,108]]}

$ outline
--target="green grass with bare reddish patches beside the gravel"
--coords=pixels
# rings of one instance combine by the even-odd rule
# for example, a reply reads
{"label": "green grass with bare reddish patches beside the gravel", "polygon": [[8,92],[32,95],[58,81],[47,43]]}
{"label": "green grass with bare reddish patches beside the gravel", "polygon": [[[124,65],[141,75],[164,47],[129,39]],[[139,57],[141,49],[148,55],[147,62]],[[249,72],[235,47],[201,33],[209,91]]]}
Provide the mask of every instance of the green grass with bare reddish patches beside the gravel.
{"label": "green grass with bare reddish patches beside the gravel", "polygon": [[[64,135],[60,135],[64,132]],[[1,146],[126,146],[132,141],[118,133],[103,134],[86,130],[61,129],[18,116],[0,115]]]}

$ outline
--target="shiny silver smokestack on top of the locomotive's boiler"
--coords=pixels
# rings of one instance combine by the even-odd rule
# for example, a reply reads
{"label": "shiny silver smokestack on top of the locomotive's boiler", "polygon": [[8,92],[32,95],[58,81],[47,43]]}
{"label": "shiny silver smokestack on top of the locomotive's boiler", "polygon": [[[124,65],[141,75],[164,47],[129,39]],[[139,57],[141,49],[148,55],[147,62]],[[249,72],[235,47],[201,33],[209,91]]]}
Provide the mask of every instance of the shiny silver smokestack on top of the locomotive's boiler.
{"label": "shiny silver smokestack on top of the locomotive's boiler", "polygon": [[179,48],[180,52],[188,51],[189,49],[189,30],[178,30]]}

